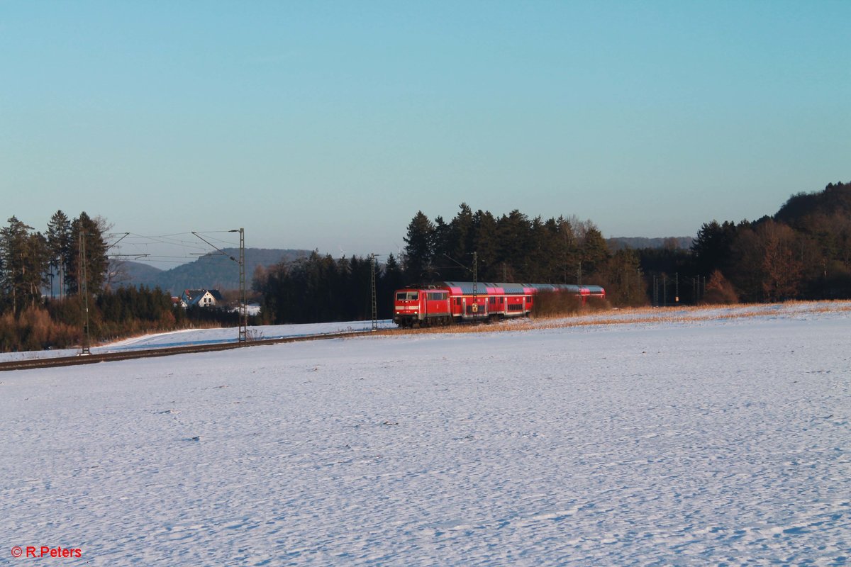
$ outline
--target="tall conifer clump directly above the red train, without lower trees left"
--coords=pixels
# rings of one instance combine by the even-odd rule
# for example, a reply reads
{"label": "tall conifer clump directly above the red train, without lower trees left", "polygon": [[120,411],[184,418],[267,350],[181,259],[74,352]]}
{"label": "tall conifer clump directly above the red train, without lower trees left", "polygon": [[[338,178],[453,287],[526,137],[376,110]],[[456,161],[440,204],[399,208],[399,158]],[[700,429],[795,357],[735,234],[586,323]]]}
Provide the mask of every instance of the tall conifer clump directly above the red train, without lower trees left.
{"label": "tall conifer clump directly above the red train, without lower trees left", "polygon": [[604,286],[616,305],[645,300],[636,251],[611,252],[591,220],[528,218],[515,209],[500,217],[461,203],[446,222],[421,211],[408,224],[404,269],[409,283],[513,281]]}

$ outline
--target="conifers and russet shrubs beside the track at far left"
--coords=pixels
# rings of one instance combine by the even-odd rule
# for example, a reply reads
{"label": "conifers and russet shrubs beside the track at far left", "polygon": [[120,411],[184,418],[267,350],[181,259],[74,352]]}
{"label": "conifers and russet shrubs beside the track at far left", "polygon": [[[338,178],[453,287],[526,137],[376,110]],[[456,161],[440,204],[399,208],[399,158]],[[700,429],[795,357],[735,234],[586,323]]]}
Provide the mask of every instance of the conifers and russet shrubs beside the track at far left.
{"label": "conifers and russet shrubs beside the track at far left", "polygon": [[83,343],[83,292],[95,342],[198,324],[237,325],[235,313],[181,309],[159,288],[116,288],[108,230],[106,219],[85,212],[71,219],[57,211],[44,233],[9,218],[0,229],[0,350]]}

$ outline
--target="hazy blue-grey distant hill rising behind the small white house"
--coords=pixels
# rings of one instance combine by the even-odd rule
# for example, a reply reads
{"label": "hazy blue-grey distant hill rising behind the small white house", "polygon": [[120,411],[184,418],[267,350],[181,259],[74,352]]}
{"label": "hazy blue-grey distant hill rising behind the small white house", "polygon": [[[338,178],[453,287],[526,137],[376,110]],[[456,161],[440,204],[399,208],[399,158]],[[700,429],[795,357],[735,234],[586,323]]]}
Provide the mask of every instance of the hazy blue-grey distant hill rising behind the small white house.
{"label": "hazy blue-grey distant hill rising behind the small white house", "polygon": [[[228,256],[219,253],[198,257],[189,264],[180,264],[172,269],[157,269],[140,262],[115,262],[111,271],[116,272],[115,286],[159,287],[164,292],[180,295],[185,289],[239,289],[239,264],[229,258],[239,258],[239,248],[223,248]],[[290,262],[309,256],[310,250],[246,248],[245,278],[251,286],[251,278],[257,266],[271,266],[279,262]]]}

